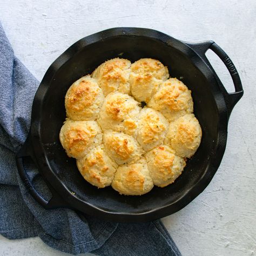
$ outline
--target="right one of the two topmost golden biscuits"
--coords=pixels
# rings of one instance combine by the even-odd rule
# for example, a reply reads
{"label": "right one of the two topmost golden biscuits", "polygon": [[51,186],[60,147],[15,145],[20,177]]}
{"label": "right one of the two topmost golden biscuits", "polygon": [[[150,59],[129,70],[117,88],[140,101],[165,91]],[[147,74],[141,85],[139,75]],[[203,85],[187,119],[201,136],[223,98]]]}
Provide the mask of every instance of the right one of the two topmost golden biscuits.
{"label": "right one of the two topmost golden biscuits", "polygon": [[156,59],[139,59],[131,65],[130,87],[139,102],[149,102],[159,84],[169,77],[168,69]]}

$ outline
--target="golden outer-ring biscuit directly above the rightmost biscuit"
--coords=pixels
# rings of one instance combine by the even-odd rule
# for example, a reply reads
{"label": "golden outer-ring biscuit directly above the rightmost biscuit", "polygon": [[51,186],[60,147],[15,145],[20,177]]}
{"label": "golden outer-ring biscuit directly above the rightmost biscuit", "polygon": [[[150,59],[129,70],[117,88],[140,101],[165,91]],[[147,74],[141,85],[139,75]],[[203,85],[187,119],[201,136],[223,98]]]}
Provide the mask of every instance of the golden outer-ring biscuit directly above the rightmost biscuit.
{"label": "golden outer-ring biscuit directly above the rightmost biscuit", "polygon": [[193,112],[191,91],[177,78],[170,78],[160,85],[147,106],[158,110],[173,122],[184,114]]}

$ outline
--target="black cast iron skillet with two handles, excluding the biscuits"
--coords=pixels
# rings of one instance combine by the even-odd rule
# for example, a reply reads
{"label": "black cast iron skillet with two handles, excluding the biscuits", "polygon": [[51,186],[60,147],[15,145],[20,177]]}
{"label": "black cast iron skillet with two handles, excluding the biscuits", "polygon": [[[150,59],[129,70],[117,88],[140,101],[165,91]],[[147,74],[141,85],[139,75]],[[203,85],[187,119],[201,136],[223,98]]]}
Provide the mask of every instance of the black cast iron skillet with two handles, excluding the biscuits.
{"label": "black cast iron skillet with two handles, excluding the biscuits", "polygon": [[[205,57],[211,49],[224,62],[235,92],[225,87]],[[87,183],[66,156],[59,142],[65,120],[64,97],[78,78],[91,73],[107,59],[122,57],[159,59],[169,67],[171,77],[181,79],[192,91],[194,113],[203,138],[183,174],[165,188],[154,186],[143,196],[121,196],[111,187],[98,189]],[[227,123],[234,105],[242,97],[241,81],[226,53],[213,41],[186,43],[164,33],[142,28],[113,28],[80,39],[52,63],[33,100],[28,139],[17,153],[17,166],[32,196],[45,208],[70,207],[106,220],[142,222],[179,211],[210,183],[223,158]],[[24,169],[31,157],[52,193],[45,200]]]}

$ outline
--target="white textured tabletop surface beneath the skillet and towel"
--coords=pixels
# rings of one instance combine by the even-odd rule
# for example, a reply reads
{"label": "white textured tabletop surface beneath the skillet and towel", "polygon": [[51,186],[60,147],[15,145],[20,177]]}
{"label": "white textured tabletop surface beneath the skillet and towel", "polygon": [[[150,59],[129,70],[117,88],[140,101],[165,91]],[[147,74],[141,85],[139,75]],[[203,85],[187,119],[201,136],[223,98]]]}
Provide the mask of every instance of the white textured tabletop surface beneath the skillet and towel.
{"label": "white textured tabletop surface beneath the skillet and towel", "polygon": [[[0,0],[0,20],[16,55],[39,80],[71,44],[115,26],[139,26],[184,41],[212,39],[237,67],[245,90],[228,127],[223,161],[190,205],[163,219],[184,255],[256,255],[256,3],[246,1]],[[223,84],[233,86],[218,58]],[[0,255],[66,255],[38,238],[0,237]]]}

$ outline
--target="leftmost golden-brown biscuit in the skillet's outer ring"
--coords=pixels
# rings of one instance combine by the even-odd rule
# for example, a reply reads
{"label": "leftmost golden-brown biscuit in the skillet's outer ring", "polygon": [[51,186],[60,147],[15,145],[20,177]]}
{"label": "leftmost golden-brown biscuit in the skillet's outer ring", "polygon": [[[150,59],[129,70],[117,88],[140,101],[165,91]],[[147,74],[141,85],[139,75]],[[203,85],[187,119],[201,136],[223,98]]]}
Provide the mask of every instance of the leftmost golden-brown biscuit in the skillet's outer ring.
{"label": "leftmost golden-brown biscuit in the skillet's outer ring", "polygon": [[95,121],[67,119],[59,133],[60,143],[69,157],[82,158],[102,144],[102,131]]}

